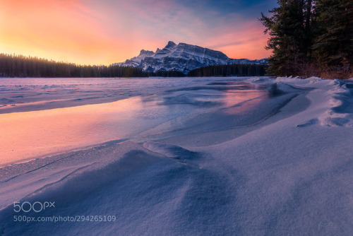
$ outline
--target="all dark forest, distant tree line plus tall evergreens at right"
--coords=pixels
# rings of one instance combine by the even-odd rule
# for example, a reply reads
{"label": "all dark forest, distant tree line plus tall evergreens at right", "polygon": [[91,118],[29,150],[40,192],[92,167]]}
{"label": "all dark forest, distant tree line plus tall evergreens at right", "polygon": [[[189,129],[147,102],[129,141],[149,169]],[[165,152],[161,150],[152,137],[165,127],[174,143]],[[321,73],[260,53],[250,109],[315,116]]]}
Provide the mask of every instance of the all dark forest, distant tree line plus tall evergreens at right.
{"label": "all dark forest, distant tree line plus tall evergreens at right", "polygon": [[87,66],[16,54],[0,54],[0,77],[178,77],[178,76],[318,76],[353,77],[353,1],[277,0],[261,13],[268,64],[206,66],[179,71],[144,72],[124,66]]}

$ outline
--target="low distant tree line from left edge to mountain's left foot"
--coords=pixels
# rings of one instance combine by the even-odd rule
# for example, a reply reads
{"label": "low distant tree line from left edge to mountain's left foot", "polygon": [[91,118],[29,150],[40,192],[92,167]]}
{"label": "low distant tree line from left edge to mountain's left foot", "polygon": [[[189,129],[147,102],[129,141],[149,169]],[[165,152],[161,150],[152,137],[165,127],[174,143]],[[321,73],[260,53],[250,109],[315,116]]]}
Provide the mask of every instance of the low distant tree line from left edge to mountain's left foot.
{"label": "low distant tree line from left edge to mountain's left foot", "polygon": [[0,54],[2,77],[147,77],[141,69],[124,66],[80,66],[37,57]]}

